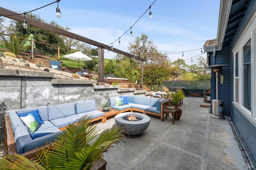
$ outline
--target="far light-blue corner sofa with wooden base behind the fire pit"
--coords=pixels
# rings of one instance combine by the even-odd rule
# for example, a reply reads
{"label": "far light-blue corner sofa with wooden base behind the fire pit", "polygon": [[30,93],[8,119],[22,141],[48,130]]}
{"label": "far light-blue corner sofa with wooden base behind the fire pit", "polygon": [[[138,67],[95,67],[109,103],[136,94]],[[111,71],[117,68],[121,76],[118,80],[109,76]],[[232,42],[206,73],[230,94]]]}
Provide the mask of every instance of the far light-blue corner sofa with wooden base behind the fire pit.
{"label": "far light-blue corner sofa with wooden base behind the fire pit", "polygon": [[[120,99],[122,99],[121,104]],[[161,120],[164,120],[164,113],[162,109],[163,107],[168,106],[167,99],[133,95],[109,97],[108,101],[110,102],[112,109],[118,110],[120,113],[126,111],[142,112],[144,114],[160,116]]]}

